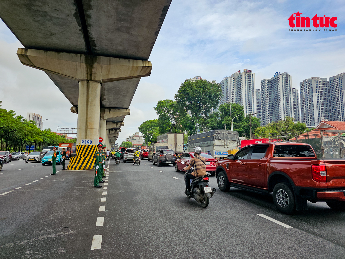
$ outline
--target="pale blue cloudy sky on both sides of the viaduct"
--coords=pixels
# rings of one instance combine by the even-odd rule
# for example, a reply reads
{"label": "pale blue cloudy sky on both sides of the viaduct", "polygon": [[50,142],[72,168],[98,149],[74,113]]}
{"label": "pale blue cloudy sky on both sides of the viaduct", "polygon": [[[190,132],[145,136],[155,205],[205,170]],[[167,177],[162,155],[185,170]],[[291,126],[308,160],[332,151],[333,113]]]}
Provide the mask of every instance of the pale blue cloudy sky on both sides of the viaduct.
{"label": "pale blue cloudy sky on both sides of the viaduct", "polygon": [[[336,32],[289,32],[288,18],[337,17]],[[118,142],[157,118],[158,100],[172,99],[186,78],[201,76],[218,83],[238,70],[252,69],[256,88],[276,71],[292,75],[293,87],[309,77],[345,72],[345,1],[204,1],[172,0],[149,60],[152,73],[140,80]],[[313,29],[313,27],[311,28]],[[0,100],[3,107],[40,113],[44,127],[77,125],[70,104],[43,73],[20,64],[21,47],[0,22]],[[47,93],[50,95],[48,96]],[[51,106],[55,100],[59,109]]]}

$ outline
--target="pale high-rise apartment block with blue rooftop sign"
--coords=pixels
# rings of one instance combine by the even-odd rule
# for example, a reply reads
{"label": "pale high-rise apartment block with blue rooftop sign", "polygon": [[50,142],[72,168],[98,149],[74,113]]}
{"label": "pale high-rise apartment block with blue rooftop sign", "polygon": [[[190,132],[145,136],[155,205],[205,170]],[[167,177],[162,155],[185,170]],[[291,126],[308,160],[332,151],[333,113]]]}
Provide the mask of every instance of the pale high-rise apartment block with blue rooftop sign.
{"label": "pale high-rise apartment block with blue rooftop sign", "polygon": [[294,117],[292,76],[276,72],[272,78],[261,80],[261,125]]}

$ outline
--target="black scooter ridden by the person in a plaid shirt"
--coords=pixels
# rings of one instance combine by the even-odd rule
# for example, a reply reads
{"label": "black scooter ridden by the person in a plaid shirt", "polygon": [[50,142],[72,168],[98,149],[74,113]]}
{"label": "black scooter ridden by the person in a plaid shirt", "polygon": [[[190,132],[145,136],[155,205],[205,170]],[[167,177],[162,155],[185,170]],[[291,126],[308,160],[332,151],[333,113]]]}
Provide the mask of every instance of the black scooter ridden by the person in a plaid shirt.
{"label": "black scooter ridden by the person in a plaid shirt", "polygon": [[[184,161],[181,164],[185,164]],[[210,178],[208,175],[199,176],[195,179],[186,179],[186,174],[194,171],[194,166],[192,166],[185,173],[185,181],[190,180],[190,192],[187,193],[187,198],[193,198],[197,202],[201,203],[201,206],[206,208],[210,202],[210,198],[215,194],[216,189],[209,186],[208,181]]]}

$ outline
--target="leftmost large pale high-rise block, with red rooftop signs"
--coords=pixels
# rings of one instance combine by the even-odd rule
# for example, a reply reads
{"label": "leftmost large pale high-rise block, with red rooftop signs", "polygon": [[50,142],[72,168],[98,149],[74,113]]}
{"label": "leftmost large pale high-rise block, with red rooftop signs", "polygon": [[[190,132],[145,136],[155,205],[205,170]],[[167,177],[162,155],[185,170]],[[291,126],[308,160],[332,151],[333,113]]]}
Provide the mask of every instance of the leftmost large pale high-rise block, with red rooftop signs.
{"label": "leftmost large pale high-rise block, with red rooftop signs", "polygon": [[[243,105],[244,114],[248,115],[256,111],[255,100],[255,73],[249,69],[237,71],[231,76],[224,77],[220,82],[223,97],[219,105],[224,103],[237,103]],[[218,111],[219,105],[215,111]]]}

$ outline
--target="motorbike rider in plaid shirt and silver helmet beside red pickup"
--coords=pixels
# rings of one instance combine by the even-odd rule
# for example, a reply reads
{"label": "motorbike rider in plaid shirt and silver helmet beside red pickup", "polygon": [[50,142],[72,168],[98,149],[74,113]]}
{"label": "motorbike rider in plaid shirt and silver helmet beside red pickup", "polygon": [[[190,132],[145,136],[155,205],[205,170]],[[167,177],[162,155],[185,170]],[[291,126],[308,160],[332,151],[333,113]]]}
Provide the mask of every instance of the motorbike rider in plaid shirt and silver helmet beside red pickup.
{"label": "motorbike rider in plaid shirt and silver helmet beside red pickup", "polygon": [[184,167],[183,170],[189,170],[192,165],[194,166],[194,171],[192,173],[185,174],[186,191],[185,193],[190,193],[190,179],[195,179],[199,176],[206,175],[206,160],[205,157],[201,156],[201,148],[194,147],[194,157],[190,160],[188,167]]}

